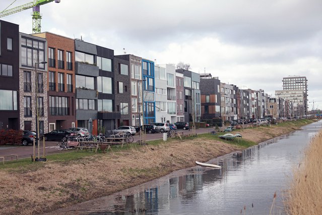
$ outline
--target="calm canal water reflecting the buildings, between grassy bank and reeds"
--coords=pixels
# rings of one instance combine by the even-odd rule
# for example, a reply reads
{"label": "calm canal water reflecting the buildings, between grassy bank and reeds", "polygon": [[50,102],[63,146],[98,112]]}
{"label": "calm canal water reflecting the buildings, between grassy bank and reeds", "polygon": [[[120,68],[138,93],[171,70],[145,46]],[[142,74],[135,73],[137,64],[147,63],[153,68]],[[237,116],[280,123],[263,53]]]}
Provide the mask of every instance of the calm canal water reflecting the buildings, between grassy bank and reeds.
{"label": "calm canal water reflecting the buildings, between grassy bank and reeds", "polygon": [[283,190],[322,121],[143,185],[54,212],[69,214],[285,214]]}

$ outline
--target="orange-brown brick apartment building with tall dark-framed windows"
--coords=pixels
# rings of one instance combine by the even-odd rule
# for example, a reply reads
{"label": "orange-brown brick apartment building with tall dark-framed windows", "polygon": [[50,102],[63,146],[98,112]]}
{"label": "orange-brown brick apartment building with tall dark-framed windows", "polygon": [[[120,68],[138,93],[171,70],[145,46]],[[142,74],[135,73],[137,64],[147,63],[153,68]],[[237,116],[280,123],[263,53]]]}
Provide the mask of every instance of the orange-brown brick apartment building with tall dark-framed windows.
{"label": "orange-brown brick apartment building with tall dark-framed windows", "polygon": [[68,129],[76,125],[75,42],[50,32],[34,34],[47,40],[48,129]]}

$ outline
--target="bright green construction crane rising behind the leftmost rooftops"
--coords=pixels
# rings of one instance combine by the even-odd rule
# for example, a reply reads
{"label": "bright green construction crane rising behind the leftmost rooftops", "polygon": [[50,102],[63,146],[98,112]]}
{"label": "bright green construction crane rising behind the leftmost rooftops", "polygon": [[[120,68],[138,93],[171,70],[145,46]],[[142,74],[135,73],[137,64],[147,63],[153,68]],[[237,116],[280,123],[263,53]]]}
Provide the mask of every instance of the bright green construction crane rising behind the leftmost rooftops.
{"label": "bright green construction crane rising behind the leftmost rooftops", "polygon": [[4,10],[0,13],[0,18],[9,16],[11,14],[18,13],[20,11],[27,10],[32,8],[32,33],[40,33],[41,32],[41,14],[40,14],[40,6],[53,2],[60,3],[60,0],[33,0],[33,2],[27,3],[25,5],[21,5],[12,9]]}

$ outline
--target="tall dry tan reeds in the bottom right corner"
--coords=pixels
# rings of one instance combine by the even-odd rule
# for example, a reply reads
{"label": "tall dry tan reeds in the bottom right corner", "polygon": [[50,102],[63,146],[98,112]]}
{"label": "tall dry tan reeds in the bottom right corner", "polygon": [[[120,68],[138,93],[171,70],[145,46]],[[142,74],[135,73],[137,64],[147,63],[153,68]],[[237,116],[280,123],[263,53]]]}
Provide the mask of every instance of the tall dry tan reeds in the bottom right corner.
{"label": "tall dry tan reeds in the bottom right corner", "polygon": [[291,188],[286,193],[288,214],[321,214],[322,211],[322,131],[310,142],[304,158],[294,167]]}

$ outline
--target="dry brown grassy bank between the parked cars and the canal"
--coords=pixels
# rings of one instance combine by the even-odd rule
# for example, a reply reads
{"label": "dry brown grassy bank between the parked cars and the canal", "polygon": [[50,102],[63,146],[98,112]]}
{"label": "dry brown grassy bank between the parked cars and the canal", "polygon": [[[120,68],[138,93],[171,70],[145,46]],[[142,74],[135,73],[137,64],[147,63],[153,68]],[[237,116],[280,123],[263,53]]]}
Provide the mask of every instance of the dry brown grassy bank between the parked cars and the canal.
{"label": "dry brown grassy bank between the parked cars and the canal", "polygon": [[0,213],[51,211],[142,184],[175,170],[195,166],[235,150],[299,129],[301,120],[271,127],[234,131],[243,138],[224,141],[202,134],[184,140],[151,141],[148,145],[113,147],[108,153],[71,151],[47,156],[45,163],[30,159],[0,165]]}

